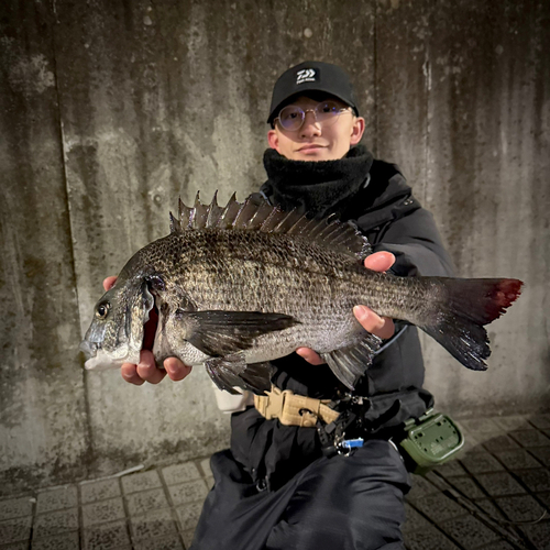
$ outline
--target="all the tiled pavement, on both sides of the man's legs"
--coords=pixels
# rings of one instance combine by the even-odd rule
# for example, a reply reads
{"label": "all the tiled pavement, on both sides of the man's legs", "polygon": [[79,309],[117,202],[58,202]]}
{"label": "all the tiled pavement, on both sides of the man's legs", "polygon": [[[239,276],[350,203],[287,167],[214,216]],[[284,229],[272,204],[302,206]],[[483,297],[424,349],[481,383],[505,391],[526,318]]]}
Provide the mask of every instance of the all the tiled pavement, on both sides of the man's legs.
{"label": "all the tiled pavement, on both sides of the man's legs", "polygon": [[[438,473],[414,479],[404,526],[408,550],[550,549],[550,415],[459,424],[466,433],[464,452]],[[0,501],[0,550],[184,550],[212,484],[208,462]],[[468,496],[474,509],[503,519],[501,528],[515,539],[446,496],[446,483]],[[544,510],[542,520],[527,522]]]}

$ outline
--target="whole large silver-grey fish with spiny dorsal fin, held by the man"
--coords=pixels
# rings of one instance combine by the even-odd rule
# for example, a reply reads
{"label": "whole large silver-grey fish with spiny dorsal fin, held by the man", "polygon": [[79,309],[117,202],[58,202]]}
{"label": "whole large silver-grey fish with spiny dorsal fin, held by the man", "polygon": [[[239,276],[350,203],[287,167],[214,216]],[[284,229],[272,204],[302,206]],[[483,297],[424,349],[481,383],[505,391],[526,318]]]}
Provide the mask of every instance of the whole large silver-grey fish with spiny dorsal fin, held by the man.
{"label": "whole large silver-grey fish with spiny dorsal fin, held by the man", "polygon": [[170,227],[134,254],[96,305],[82,342],[87,367],[138,362],[150,340],[144,327],[157,312],[160,365],[174,355],[205,364],[222,389],[262,393],[270,387],[265,362],[308,346],[352,388],[380,346],[353,316],[353,306],[364,304],[417,324],[465,366],[484,370],[491,350],[483,326],[521,286],[372,272],[362,265],[367,242],[351,226],[268,211],[251,199],[200,205],[197,216],[180,207]]}

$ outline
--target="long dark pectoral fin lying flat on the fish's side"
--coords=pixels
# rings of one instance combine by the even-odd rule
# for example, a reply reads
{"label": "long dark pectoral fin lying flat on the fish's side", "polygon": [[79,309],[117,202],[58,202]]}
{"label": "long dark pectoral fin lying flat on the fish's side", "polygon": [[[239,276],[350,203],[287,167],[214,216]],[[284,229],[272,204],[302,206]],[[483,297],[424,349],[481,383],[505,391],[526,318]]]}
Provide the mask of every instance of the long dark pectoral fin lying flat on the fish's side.
{"label": "long dark pectoral fin lying flat on the fish's side", "polygon": [[248,350],[255,338],[299,322],[287,315],[261,311],[179,310],[177,318],[186,324],[185,339],[211,356]]}

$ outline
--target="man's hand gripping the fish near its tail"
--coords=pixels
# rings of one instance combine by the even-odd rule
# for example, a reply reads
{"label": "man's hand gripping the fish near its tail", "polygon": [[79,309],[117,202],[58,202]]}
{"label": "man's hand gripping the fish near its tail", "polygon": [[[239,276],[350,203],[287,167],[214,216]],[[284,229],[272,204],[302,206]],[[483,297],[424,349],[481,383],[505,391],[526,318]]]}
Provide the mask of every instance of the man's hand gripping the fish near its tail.
{"label": "man's hand gripping the fish near its tail", "polygon": [[[394,262],[395,256],[391,252],[375,252],[365,258],[365,267],[375,272],[386,272],[394,265]],[[353,315],[366,331],[382,339],[388,339],[394,336],[394,321],[388,317],[378,317],[366,306],[355,306],[353,308]],[[324,363],[324,361],[309,348],[298,348],[296,353],[301,355],[312,365]]]}

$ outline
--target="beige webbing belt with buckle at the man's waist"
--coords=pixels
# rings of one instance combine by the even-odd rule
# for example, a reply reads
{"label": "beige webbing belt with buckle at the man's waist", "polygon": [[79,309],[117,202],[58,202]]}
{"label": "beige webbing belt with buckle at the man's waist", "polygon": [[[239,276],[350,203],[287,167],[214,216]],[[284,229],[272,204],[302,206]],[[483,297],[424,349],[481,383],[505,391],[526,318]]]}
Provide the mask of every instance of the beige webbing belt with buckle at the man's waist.
{"label": "beige webbing belt with buckle at the man's waist", "polygon": [[290,389],[282,392],[275,386],[272,386],[272,391],[266,394],[266,396],[254,395],[254,406],[267,420],[278,418],[285,426],[314,428],[318,418],[324,424],[330,424],[340,416],[340,413],[327,405],[330,399],[314,399],[297,395]]}

